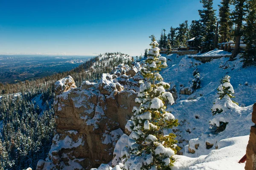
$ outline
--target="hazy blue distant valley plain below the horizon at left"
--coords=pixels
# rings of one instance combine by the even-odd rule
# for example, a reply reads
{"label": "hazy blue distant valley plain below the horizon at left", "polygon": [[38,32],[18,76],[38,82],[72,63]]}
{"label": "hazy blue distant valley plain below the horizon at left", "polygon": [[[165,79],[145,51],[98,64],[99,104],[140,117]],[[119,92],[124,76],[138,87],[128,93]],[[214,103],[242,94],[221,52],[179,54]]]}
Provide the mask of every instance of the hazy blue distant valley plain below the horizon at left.
{"label": "hazy blue distant valley plain below the horizon at left", "polygon": [[69,71],[93,56],[0,55],[0,82],[13,83]]}

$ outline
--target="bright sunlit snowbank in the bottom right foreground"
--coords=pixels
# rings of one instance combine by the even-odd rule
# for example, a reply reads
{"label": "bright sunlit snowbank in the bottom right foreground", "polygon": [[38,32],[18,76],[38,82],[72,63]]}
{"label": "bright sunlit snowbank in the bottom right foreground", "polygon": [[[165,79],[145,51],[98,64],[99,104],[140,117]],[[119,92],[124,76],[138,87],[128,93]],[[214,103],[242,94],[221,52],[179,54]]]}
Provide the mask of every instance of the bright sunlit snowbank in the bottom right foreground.
{"label": "bright sunlit snowbank in the bottom right foreground", "polygon": [[219,141],[218,150],[197,158],[175,155],[172,170],[244,170],[238,161],[244,156],[249,136],[239,136]]}

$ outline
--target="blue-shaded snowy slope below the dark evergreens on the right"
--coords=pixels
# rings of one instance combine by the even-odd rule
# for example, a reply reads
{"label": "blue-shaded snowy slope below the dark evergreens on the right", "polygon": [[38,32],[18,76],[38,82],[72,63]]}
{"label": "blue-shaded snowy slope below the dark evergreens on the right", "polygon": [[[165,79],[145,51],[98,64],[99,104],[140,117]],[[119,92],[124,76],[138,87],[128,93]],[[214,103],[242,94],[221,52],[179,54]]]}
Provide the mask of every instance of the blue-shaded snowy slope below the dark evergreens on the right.
{"label": "blue-shaded snowy slope below the dark evergreens on the right", "polygon": [[[197,138],[209,128],[209,120],[213,118],[211,108],[213,102],[218,97],[217,88],[220,85],[220,79],[225,75],[231,77],[230,83],[233,85],[236,96],[233,100],[240,106],[249,106],[240,108],[237,113],[241,113],[241,128],[239,133],[227,134],[228,137],[248,135],[250,132],[250,121],[252,106],[256,102],[256,67],[242,68],[242,59],[228,61],[229,58],[214,59],[205,64],[187,56],[171,54],[166,56],[169,68],[161,72],[165,82],[169,82],[171,87],[177,91],[176,103],[168,106],[167,110],[172,111],[180,125],[175,130],[179,146],[184,153],[184,146],[190,139]],[[195,68],[201,76],[201,88],[197,89],[191,95],[180,95],[179,91],[183,87],[189,87],[192,83],[192,72]],[[248,82],[248,85],[245,85]],[[182,86],[182,87],[180,87]],[[227,126],[232,126],[227,125]],[[235,126],[235,125],[233,125]],[[237,130],[237,129],[236,129]],[[234,130],[234,131],[236,131]],[[172,132],[170,130],[169,132]],[[223,134],[223,138],[226,134]],[[226,136],[226,137],[227,137]],[[209,150],[210,151],[210,150]]]}

